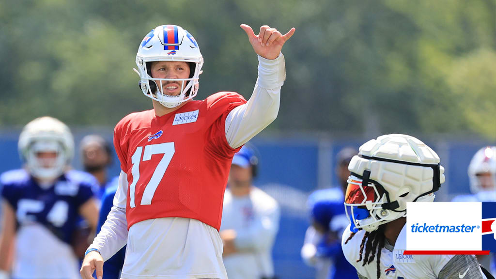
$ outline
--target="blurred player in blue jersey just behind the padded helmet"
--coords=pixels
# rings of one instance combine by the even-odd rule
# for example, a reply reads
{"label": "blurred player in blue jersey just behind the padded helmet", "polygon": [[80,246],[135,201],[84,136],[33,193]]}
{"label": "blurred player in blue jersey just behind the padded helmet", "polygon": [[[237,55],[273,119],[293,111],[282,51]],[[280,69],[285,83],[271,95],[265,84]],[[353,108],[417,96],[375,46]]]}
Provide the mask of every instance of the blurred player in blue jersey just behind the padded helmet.
{"label": "blurred player in blue jersey just behind the padded helmet", "polygon": [[341,249],[341,236],[349,221],[343,202],[350,175],[348,164],[358,150],[343,148],[336,155],[339,185],[321,189],[309,196],[308,208],[312,224],[305,233],[301,255],[305,263],[316,269],[317,279],[356,278],[356,271],[346,261]]}

